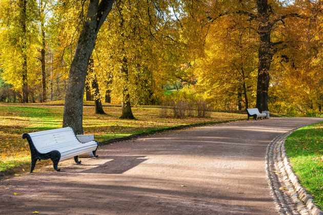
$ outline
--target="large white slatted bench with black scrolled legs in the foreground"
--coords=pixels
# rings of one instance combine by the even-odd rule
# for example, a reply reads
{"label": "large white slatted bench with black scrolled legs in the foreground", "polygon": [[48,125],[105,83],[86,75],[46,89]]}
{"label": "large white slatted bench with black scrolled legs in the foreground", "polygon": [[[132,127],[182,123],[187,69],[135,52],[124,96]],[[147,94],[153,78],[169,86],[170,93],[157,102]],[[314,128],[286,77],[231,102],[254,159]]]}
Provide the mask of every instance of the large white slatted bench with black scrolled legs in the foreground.
{"label": "large white slatted bench with black scrolled legs in the foreground", "polygon": [[37,160],[51,159],[54,169],[59,171],[57,168],[59,161],[74,157],[75,162],[80,163],[78,155],[90,152],[97,157],[98,142],[96,140],[80,142],[71,127],[23,134],[23,139],[25,138],[31,153],[30,173],[34,170]]}

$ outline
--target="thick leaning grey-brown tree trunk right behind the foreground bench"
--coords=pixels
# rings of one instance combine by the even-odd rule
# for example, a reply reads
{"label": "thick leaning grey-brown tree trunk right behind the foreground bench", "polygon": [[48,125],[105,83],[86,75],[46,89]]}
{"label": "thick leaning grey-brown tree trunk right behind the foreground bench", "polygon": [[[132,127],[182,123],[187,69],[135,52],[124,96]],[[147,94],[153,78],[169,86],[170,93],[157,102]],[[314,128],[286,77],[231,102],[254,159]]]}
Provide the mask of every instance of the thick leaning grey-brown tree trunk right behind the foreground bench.
{"label": "thick leaning grey-brown tree trunk right behind the foreground bench", "polygon": [[83,96],[89,60],[92,55],[97,33],[112,9],[114,0],[91,0],[87,18],[77,41],[70,68],[63,127],[71,126],[75,134],[83,134]]}

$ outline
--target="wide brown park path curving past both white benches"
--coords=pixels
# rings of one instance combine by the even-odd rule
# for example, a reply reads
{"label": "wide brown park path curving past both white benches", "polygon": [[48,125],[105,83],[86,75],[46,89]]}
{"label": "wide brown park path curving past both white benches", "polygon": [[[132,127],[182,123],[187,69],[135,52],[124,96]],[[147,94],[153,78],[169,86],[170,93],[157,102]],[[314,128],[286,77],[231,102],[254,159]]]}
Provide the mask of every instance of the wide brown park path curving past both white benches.
{"label": "wide brown park path curving past both white benches", "polygon": [[0,214],[277,214],[266,147],[321,120],[240,121],[104,145],[81,165],[69,159],[60,172],[36,167],[1,181]]}

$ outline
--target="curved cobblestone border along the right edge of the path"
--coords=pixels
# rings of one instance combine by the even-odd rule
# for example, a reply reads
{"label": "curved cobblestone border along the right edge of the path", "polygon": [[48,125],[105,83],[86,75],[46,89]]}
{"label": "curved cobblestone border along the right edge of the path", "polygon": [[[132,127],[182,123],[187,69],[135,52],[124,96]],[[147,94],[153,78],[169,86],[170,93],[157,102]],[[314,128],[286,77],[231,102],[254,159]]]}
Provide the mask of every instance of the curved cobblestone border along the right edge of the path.
{"label": "curved cobblestone border along the right edge of the path", "polygon": [[300,184],[285,150],[285,139],[298,128],[278,135],[266,150],[266,173],[270,193],[279,214],[323,215],[313,197]]}

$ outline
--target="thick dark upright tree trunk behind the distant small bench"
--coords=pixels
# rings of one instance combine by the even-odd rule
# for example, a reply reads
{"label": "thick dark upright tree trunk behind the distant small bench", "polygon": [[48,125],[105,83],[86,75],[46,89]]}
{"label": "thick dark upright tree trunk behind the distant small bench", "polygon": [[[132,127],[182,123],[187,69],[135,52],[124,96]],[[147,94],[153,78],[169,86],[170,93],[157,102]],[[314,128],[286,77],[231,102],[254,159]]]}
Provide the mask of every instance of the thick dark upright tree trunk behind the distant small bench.
{"label": "thick dark upright tree trunk behind the distant small bench", "polygon": [[269,69],[273,58],[270,34],[273,24],[269,22],[267,0],[257,0],[260,44],[258,50],[258,79],[256,107],[268,111]]}

